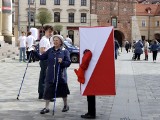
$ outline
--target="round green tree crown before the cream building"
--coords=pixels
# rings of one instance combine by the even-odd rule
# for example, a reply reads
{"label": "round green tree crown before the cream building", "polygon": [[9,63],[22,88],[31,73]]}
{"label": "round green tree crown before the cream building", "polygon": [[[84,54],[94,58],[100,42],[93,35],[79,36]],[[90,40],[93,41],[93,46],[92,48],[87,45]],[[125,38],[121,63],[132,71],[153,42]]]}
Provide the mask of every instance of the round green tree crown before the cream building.
{"label": "round green tree crown before the cream building", "polygon": [[42,25],[52,21],[52,13],[48,10],[42,10],[37,14],[37,20]]}

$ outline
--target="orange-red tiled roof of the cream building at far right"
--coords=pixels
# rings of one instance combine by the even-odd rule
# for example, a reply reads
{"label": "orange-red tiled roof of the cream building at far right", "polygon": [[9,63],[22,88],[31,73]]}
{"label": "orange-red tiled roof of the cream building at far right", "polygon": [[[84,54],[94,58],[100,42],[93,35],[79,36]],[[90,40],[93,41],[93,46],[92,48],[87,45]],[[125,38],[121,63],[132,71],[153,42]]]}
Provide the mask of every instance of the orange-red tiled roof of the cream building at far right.
{"label": "orange-red tiled roof of the cream building at far right", "polygon": [[[151,12],[148,12],[148,10]],[[138,16],[160,15],[160,5],[136,4],[136,15]]]}

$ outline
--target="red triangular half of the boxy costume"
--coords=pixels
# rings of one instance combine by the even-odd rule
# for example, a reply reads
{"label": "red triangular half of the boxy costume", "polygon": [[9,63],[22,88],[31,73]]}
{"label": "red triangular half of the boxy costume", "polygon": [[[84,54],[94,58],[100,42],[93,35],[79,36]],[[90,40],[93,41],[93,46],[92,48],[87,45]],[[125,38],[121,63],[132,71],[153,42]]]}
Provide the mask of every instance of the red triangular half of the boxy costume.
{"label": "red triangular half of the boxy costume", "polygon": [[112,30],[83,95],[116,94],[114,61],[114,37]]}

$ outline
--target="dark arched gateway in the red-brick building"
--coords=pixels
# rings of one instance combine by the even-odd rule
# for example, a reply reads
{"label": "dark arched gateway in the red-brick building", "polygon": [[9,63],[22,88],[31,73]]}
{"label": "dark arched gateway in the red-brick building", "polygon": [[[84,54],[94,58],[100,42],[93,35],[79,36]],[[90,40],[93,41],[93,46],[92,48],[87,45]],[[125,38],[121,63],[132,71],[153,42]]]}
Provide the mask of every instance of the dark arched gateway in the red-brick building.
{"label": "dark arched gateway in the red-brick building", "polygon": [[119,31],[119,30],[114,30],[114,37],[115,37],[115,39],[118,40],[120,46],[122,47],[123,40],[125,39],[124,34],[121,31]]}

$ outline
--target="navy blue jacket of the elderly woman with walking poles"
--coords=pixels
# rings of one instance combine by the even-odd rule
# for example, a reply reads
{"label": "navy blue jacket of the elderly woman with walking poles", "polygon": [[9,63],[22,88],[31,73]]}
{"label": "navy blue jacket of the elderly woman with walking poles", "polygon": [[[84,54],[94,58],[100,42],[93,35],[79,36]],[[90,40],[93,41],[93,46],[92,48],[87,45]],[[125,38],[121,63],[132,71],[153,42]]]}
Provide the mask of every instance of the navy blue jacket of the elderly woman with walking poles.
{"label": "navy blue jacket of the elderly woman with walking poles", "polygon": [[59,83],[67,83],[67,67],[70,66],[71,60],[68,50],[58,49],[55,50],[54,47],[48,49],[42,55],[34,52],[35,56],[40,60],[47,60],[47,71],[46,71],[46,83],[54,83],[57,81],[57,71],[58,71],[58,58],[62,58],[62,63],[60,63],[60,71],[58,80]]}

